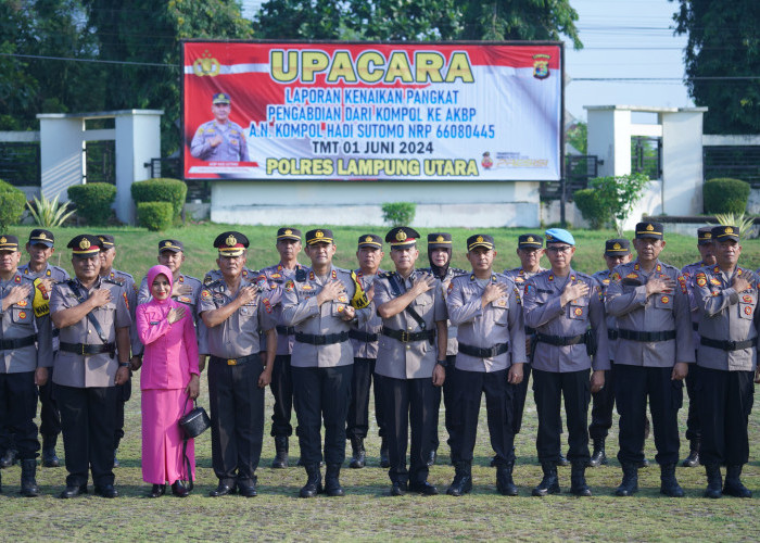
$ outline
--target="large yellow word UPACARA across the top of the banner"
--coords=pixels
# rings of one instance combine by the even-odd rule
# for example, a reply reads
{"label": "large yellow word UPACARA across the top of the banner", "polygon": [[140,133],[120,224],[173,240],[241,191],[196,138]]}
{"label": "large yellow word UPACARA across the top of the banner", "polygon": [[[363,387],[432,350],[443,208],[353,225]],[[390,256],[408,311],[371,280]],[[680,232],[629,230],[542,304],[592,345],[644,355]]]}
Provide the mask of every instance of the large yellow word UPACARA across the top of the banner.
{"label": "large yellow word UPACARA across the top of the banner", "polygon": [[370,50],[354,59],[349,51],[273,49],[269,74],[282,84],[315,83],[317,74],[325,74],[328,84],[474,83],[470,59],[464,51],[453,51],[448,59],[440,51],[416,51],[413,61],[407,51],[385,56]]}

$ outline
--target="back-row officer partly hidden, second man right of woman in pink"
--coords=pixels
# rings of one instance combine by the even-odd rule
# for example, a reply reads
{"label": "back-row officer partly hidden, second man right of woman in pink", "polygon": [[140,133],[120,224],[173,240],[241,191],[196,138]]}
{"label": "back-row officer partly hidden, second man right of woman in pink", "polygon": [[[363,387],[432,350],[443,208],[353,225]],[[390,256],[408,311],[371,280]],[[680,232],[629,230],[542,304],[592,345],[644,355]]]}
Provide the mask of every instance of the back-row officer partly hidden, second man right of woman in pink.
{"label": "back-row officer partly hidden, second man right of woman in pink", "polygon": [[[301,230],[292,227],[283,227],[277,230],[277,252],[280,262],[274,266],[262,269],[259,278],[263,278],[273,293],[275,318],[277,319],[277,355],[275,356],[275,369],[271,374],[271,395],[275,396],[275,406],[271,413],[271,437],[275,438],[275,459],[273,468],[288,467],[288,440],[293,433],[290,425],[293,408],[293,379],[290,371],[290,357],[295,341],[295,330],[292,326],[281,324],[282,319],[282,288],[284,283],[295,278],[299,270],[305,272],[305,266],[299,264],[301,252]],[[257,279],[258,281],[258,279]]]}

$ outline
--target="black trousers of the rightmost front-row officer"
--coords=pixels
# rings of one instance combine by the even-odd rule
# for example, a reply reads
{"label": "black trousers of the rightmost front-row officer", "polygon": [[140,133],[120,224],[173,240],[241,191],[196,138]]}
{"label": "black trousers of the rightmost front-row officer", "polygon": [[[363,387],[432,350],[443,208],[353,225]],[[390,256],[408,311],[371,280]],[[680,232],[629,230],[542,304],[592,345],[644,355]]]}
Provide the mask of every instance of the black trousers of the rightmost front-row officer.
{"label": "black trousers of the rightmost front-row officer", "polygon": [[755,401],[753,377],[753,371],[699,368],[695,392],[701,421],[702,464],[742,466],[749,460],[747,424]]}

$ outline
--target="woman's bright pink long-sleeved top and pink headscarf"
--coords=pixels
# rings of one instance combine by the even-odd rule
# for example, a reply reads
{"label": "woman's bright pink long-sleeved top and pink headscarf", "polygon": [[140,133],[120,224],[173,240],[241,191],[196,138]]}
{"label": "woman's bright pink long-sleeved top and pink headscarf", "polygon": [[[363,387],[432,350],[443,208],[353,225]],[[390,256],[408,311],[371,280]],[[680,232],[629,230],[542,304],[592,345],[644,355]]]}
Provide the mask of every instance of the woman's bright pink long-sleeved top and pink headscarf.
{"label": "woman's bright pink long-sleeved top and pink headscarf", "polygon": [[[153,266],[148,273],[149,288],[157,275],[165,275],[173,283],[172,272],[167,267]],[[182,306],[168,298],[153,299],[137,307],[137,333],[145,345],[140,371],[141,390],[183,389],[192,374],[200,375],[192,315],[186,312],[180,320],[172,325],[167,320],[173,307]]]}

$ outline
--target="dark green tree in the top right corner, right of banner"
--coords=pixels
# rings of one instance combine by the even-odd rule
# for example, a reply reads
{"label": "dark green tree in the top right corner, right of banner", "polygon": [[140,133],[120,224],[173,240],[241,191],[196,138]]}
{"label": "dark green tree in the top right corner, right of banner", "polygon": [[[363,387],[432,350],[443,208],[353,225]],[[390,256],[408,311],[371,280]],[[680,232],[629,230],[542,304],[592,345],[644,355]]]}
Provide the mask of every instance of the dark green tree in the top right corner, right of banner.
{"label": "dark green tree in the top right corner, right of banner", "polygon": [[705,131],[760,132],[760,2],[677,1],[675,33],[688,35],[686,86],[697,105],[709,108]]}

